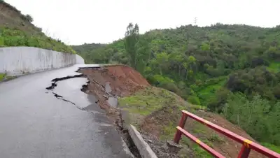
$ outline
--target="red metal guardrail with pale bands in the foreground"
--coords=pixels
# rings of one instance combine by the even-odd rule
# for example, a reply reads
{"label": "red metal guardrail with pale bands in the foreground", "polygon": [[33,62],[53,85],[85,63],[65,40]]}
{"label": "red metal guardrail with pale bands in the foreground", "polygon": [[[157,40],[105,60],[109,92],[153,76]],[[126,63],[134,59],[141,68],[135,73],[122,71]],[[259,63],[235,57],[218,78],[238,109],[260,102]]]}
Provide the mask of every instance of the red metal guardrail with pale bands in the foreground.
{"label": "red metal guardrail with pale bands in the foreground", "polygon": [[213,124],[207,120],[204,120],[203,118],[198,117],[197,115],[194,115],[193,113],[189,113],[186,110],[182,110],[182,113],[183,113],[183,115],[179,122],[179,126],[176,127],[177,131],[174,136],[174,143],[179,143],[181,136],[183,134],[183,135],[187,136],[188,138],[190,138],[190,140],[192,140],[195,143],[197,143],[198,145],[200,145],[200,147],[202,147],[204,150],[207,150],[207,152],[209,152],[214,157],[218,157],[218,158],[224,157],[219,152],[216,152],[214,149],[212,149],[211,147],[209,147],[208,145],[206,145],[205,143],[200,141],[198,138],[196,138],[192,134],[188,133],[188,131],[183,129],[183,127],[185,126],[187,117],[190,117],[193,120],[196,120],[197,122],[200,122],[200,123],[206,125],[207,127],[214,129],[215,131],[218,131],[219,133],[221,133],[229,138],[232,138],[232,140],[243,144],[241,147],[241,150],[239,152],[239,155],[238,155],[239,158],[247,158],[248,155],[250,154],[251,149],[255,150],[256,152],[260,152],[262,155],[265,155],[267,157],[280,158],[280,154],[278,154],[272,150],[269,150],[269,149],[263,147],[262,145],[258,145],[257,143],[254,143],[253,141],[243,138],[243,137],[233,133],[232,131],[229,131],[228,129],[219,127],[218,125]]}

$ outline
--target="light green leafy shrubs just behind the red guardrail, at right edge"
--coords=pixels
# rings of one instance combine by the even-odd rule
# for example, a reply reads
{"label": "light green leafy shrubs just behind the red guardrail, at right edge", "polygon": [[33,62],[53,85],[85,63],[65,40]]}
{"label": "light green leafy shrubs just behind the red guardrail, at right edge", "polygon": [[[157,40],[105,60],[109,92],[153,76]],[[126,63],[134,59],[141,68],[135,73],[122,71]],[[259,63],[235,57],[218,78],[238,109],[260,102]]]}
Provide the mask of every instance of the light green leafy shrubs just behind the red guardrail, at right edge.
{"label": "light green leafy shrubs just behind the red guardrail, at right edge", "polygon": [[280,145],[280,102],[269,105],[260,95],[248,99],[244,94],[231,94],[223,114],[257,141]]}

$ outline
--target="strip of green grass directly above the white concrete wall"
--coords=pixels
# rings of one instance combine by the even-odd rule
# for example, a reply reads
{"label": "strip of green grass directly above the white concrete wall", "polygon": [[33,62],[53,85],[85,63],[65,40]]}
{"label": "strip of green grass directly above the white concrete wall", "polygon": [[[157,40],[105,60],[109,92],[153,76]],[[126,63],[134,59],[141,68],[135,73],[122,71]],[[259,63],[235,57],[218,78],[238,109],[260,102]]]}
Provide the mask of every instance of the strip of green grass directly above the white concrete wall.
{"label": "strip of green grass directly above the white concrete wall", "polygon": [[0,28],[0,47],[27,46],[55,50],[58,52],[76,53],[60,40],[52,39],[43,33],[27,34],[20,29]]}

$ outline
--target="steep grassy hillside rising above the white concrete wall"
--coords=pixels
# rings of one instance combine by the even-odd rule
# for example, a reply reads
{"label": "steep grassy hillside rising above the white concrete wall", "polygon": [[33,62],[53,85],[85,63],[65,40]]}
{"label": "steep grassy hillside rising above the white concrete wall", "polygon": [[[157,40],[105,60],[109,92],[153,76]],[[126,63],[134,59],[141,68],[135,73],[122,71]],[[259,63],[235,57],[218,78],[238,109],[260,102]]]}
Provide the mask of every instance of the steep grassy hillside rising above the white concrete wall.
{"label": "steep grassy hillside rising above the white concrete wall", "polygon": [[31,15],[23,15],[14,6],[0,0],[0,47],[30,46],[76,53],[59,39],[45,36],[42,29],[31,22]]}

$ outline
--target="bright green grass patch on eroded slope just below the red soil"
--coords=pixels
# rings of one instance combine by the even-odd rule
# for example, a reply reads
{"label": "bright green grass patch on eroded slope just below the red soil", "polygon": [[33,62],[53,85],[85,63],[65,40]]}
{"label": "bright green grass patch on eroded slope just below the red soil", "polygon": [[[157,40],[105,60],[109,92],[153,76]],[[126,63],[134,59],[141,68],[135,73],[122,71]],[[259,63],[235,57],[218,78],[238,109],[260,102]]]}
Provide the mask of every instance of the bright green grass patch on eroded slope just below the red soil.
{"label": "bright green grass patch on eroded slope just below the red soil", "polygon": [[[118,99],[118,106],[123,108],[125,113],[128,113],[128,115],[125,117],[125,122],[127,124],[133,124],[135,127],[139,127],[145,117],[149,117],[152,113],[160,111],[162,108],[167,107],[165,110],[168,110],[168,113],[173,113],[174,110],[168,106],[173,105],[174,101],[177,101],[178,103],[178,98],[179,96],[169,92],[166,89],[158,87],[146,87],[146,89],[142,89],[132,96],[126,96]],[[180,113],[180,110],[183,109],[186,108],[181,107],[176,112]],[[179,119],[179,117],[176,119]],[[169,128],[168,124],[169,122],[166,123],[166,129]],[[175,124],[170,124],[171,129],[174,129],[175,127]],[[162,129],[162,133],[163,135],[166,135],[170,132]],[[164,137],[167,138],[168,136]]]}

